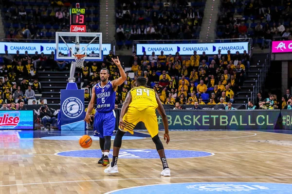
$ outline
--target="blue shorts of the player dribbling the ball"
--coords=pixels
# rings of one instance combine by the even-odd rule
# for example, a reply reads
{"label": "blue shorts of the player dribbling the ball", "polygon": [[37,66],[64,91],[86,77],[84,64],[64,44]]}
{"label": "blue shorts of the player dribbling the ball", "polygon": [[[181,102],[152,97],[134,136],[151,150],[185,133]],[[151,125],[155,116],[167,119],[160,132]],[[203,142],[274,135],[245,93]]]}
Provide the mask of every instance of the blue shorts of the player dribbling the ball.
{"label": "blue shorts of the player dribbling the ball", "polygon": [[116,124],[115,112],[109,113],[96,112],[93,123],[93,136],[104,138],[112,136]]}

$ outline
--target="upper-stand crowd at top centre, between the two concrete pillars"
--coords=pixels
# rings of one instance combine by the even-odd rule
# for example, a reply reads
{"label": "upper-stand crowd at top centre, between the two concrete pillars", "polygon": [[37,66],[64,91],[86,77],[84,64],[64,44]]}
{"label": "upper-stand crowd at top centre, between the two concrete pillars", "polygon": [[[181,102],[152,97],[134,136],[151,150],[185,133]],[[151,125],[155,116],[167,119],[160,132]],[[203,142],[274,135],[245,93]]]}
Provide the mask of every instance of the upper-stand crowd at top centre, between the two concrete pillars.
{"label": "upper-stand crowd at top centre, between the two concrete pillars", "polygon": [[202,22],[203,2],[185,0],[125,3],[120,0],[116,11],[118,42],[132,40],[197,39]]}

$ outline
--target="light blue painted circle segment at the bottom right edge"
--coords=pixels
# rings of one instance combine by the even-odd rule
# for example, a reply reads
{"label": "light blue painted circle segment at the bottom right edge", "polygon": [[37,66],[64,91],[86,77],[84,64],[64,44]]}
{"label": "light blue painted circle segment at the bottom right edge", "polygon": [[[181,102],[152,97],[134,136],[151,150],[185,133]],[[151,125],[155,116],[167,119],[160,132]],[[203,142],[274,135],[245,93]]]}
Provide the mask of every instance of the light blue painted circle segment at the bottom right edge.
{"label": "light blue painted circle segment at the bottom right edge", "polygon": [[188,182],[146,185],[106,194],[291,194],[292,184],[259,182]]}

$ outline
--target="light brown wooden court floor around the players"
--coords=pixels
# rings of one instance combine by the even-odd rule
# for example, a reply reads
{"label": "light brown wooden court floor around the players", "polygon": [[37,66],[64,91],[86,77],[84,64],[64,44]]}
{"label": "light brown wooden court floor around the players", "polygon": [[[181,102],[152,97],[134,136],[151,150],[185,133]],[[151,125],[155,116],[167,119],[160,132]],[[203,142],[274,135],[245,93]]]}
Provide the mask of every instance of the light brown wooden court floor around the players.
{"label": "light brown wooden court floor around the players", "polygon": [[[142,131],[142,133],[147,133]],[[163,136],[163,132],[159,133]],[[78,141],[35,138],[28,147],[0,143],[0,194],[99,194],[127,187],[180,182],[292,183],[292,135],[262,131],[170,131],[165,149],[214,153],[168,159],[171,177],[161,177],[160,159],[119,158],[119,174],[107,175],[95,158],[61,157],[83,150]],[[24,143],[25,144],[25,143]],[[155,149],[150,138],[125,140],[123,149]],[[89,149],[99,149],[93,141]],[[99,156],[98,156],[99,157]],[[167,155],[166,155],[167,157]],[[147,192],[147,191],[145,191]]]}

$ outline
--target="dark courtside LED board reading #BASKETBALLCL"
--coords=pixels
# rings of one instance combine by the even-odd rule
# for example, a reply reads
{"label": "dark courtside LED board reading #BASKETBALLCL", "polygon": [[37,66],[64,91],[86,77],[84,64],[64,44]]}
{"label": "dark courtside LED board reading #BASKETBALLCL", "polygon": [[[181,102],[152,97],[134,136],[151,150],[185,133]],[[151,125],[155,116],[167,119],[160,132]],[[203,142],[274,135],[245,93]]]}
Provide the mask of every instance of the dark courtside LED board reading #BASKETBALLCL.
{"label": "dark courtside LED board reading #BASKETBALLCL", "polygon": [[[280,110],[165,110],[169,129],[281,129]],[[159,129],[164,129],[157,113]]]}

